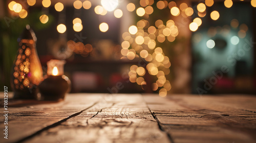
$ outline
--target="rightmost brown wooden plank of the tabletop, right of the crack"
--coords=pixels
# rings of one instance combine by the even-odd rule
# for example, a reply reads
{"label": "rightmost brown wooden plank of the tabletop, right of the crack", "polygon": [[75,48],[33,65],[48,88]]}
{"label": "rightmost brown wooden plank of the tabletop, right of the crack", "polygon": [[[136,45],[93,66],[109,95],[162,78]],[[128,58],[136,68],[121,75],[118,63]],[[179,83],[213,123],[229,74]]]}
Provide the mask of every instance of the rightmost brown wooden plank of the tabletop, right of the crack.
{"label": "rightmost brown wooden plank of the tabletop, right of the crack", "polygon": [[256,142],[256,97],[144,96],[174,142]]}

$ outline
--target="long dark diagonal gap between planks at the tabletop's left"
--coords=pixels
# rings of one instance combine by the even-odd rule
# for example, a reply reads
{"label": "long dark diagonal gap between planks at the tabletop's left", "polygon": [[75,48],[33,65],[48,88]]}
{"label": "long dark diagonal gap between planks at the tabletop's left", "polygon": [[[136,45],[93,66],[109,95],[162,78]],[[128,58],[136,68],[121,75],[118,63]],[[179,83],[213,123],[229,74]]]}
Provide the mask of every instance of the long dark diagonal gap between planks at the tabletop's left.
{"label": "long dark diagonal gap between planks at the tabletop's left", "polygon": [[45,128],[42,128],[41,130],[38,130],[37,132],[35,132],[35,133],[33,133],[33,134],[31,134],[31,135],[25,137],[25,138],[22,138],[22,139],[18,140],[17,142],[24,142],[24,141],[26,141],[26,140],[28,140],[28,139],[30,139],[30,138],[36,136],[36,135],[39,135],[40,133],[42,133],[42,132],[44,132],[44,131],[47,131],[47,130],[49,130],[49,129],[51,129],[51,128],[57,127],[57,126],[61,125],[61,123],[66,122],[66,121],[69,120],[70,118],[75,117],[75,116],[81,114],[83,111],[88,110],[89,108],[93,107],[93,106],[96,105],[97,103],[98,103],[98,102],[95,102],[93,105],[87,107],[86,109],[83,109],[83,110],[81,110],[81,111],[79,111],[79,112],[77,112],[77,113],[74,113],[74,114],[72,114],[72,115],[66,117],[66,118],[63,118],[63,119],[60,120],[59,122],[56,122],[56,123],[54,123],[54,124],[52,124],[52,125],[50,125],[50,126],[47,126],[47,127],[45,127]]}

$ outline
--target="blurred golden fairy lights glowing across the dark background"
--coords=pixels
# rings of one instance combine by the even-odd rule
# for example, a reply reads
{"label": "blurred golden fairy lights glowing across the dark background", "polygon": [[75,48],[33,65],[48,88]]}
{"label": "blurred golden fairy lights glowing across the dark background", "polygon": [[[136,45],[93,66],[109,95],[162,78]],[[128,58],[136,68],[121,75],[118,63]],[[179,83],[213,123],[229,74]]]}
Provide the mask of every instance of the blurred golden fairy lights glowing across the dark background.
{"label": "blurred golden fairy lights glowing across the dark background", "polygon": [[[27,4],[29,6],[34,6],[35,3],[36,0],[27,0]],[[94,8],[95,13],[98,15],[106,15],[108,12],[114,11],[113,14],[116,18],[121,18],[123,16],[123,11],[126,10],[134,12],[141,17],[141,19],[137,21],[136,25],[130,26],[129,29],[127,29],[127,32],[122,34],[123,41],[121,43],[121,55],[123,57],[121,57],[121,59],[133,60],[138,57],[145,59],[145,61],[148,62],[145,67],[137,65],[132,65],[130,67],[130,81],[142,85],[143,88],[143,85],[147,84],[144,79],[146,68],[148,74],[156,76],[156,81],[151,85],[152,90],[156,91],[159,89],[159,96],[165,97],[167,91],[172,88],[170,82],[166,80],[166,75],[170,73],[169,67],[171,64],[169,58],[165,56],[162,47],[158,45],[165,41],[173,42],[179,34],[179,29],[175,21],[172,19],[168,20],[166,23],[161,19],[156,20],[155,23],[150,23],[147,18],[150,17],[154,10],[156,10],[152,5],[156,5],[158,10],[169,9],[170,14],[173,16],[181,15],[184,18],[191,18],[196,13],[198,17],[194,18],[188,25],[189,30],[195,32],[198,30],[198,27],[202,25],[201,18],[206,15],[207,7],[213,6],[214,3],[214,0],[205,0],[204,3],[199,3],[197,7],[193,9],[193,7],[188,6],[186,3],[177,5],[174,1],[140,0],[139,5],[129,3],[126,5],[126,9],[116,9],[118,6],[118,0],[101,0],[101,5],[97,5],[95,7],[92,6],[90,1],[82,2],[77,0],[74,1],[73,6],[75,9],[83,8],[88,10]],[[251,0],[250,3],[252,7],[256,7],[256,0]],[[232,7],[233,2],[232,0],[225,0],[223,4],[226,8],[230,8]],[[45,8],[48,8],[51,5],[50,0],[42,1],[42,6]],[[19,3],[12,1],[9,3],[8,7],[11,11],[17,13],[20,18],[26,18],[28,15],[28,12]],[[54,5],[54,8],[56,11],[61,12],[64,9],[64,5],[58,2]],[[216,10],[211,11],[209,15],[212,20],[218,20],[220,17],[220,13]],[[49,20],[47,14],[42,14],[39,19],[41,23],[47,23]],[[231,22],[231,26],[232,23],[233,25],[236,25],[236,21]],[[63,23],[60,23],[56,29],[59,33],[65,33],[67,30]],[[73,29],[76,32],[80,32],[83,29],[80,18],[74,18]],[[246,29],[246,26],[241,25],[240,29],[241,30],[238,34],[240,37],[243,37],[243,32],[245,31],[244,29]],[[107,32],[109,30],[108,23],[100,23],[99,30],[101,32]],[[211,42],[212,41],[208,41],[209,48],[212,46]],[[72,49],[75,50],[75,45],[77,43],[72,41],[69,41],[69,43],[74,45],[72,46]],[[83,44],[81,44],[79,48],[82,49],[82,46]],[[92,47],[90,45],[90,51],[91,49]],[[79,50],[77,53],[79,53]]]}

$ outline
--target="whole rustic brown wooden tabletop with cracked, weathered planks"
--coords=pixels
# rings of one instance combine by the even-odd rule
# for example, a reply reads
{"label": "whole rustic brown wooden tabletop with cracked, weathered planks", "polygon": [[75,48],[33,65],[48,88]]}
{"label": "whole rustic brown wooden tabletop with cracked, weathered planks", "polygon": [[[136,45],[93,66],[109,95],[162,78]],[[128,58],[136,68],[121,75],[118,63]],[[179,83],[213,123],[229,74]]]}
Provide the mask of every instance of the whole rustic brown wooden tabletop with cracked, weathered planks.
{"label": "whole rustic brown wooden tabletop with cracked, weathered planks", "polygon": [[9,99],[8,139],[3,106],[0,111],[0,142],[256,142],[255,96],[77,93],[62,102]]}

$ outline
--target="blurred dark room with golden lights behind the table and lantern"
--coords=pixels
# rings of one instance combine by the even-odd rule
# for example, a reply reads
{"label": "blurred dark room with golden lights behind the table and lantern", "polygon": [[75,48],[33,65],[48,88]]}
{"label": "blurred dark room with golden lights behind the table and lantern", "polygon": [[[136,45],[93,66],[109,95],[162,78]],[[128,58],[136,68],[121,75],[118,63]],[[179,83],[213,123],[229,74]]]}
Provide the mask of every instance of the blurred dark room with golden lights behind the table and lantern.
{"label": "blurred dark room with golden lights behind the table and lantern", "polygon": [[[29,24],[71,92],[256,93],[256,1],[0,0],[0,81]],[[3,90],[0,89],[1,91]]]}

